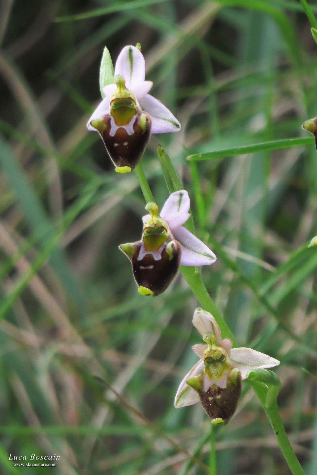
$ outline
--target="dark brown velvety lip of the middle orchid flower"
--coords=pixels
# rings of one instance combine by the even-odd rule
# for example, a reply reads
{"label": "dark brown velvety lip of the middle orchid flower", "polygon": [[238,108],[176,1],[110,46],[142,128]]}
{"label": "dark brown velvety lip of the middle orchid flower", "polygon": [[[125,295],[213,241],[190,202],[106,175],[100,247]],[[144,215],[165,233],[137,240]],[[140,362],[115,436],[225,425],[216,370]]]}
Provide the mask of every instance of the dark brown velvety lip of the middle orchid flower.
{"label": "dark brown velvety lip of the middle orchid flower", "polygon": [[168,288],[179,268],[182,247],[176,240],[170,242],[173,243],[171,253],[166,250],[167,242],[163,245],[161,258],[158,260],[152,254],[146,254],[138,260],[140,249],[144,247],[142,241],[134,243],[134,254],[132,257],[128,256],[136,283],[151,290],[153,295],[159,295]]}

